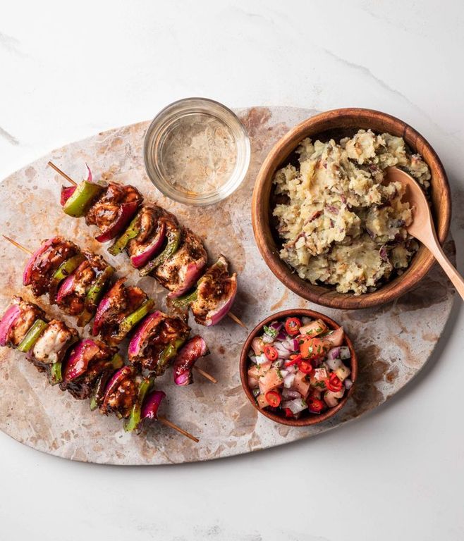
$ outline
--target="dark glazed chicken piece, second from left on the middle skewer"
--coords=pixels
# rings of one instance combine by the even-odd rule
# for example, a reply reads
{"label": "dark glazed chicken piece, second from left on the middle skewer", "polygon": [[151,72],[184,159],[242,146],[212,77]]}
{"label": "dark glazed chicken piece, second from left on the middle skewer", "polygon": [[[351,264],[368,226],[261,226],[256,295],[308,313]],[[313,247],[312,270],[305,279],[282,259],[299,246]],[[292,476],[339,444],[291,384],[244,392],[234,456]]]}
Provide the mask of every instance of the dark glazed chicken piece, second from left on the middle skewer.
{"label": "dark glazed chicken piece, second from left on the middle skewer", "polygon": [[102,256],[90,252],[83,252],[83,255],[85,261],[75,270],[69,290],[56,299],[59,308],[71,316],[78,316],[83,311],[90,287],[108,267]]}

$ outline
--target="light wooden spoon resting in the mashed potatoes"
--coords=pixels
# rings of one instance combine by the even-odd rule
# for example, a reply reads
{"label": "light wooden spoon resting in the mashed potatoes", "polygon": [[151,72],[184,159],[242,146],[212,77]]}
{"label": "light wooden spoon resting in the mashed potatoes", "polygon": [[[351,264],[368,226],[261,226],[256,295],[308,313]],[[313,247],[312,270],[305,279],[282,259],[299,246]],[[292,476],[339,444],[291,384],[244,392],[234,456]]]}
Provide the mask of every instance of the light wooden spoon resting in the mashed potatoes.
{"label": "light wooden spoon resting in the mashed potatoes", "polygon": [[420,240],[432,252],[436,261],[439,262],[441,268],[443,268],[460,296],[464,299],[464,280],[441,249],[436,238],[432,214],[424,192],[422,192],[413,177],[396,167],[389,167],[386,170],[386,180],[388,182],[401,182],[405,186],[406,191],[403,195],[403,201],[408,201],[411,209],[413,209],[413,223],[408,226],[408,233]]}

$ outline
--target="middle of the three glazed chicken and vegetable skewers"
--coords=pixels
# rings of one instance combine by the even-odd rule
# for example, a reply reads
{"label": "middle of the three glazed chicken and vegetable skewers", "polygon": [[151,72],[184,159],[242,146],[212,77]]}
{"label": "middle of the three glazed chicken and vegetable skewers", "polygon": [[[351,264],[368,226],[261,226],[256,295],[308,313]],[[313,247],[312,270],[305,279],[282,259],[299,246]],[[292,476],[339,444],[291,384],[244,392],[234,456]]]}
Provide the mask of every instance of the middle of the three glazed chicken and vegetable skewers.
{"label": "middle of the three glazed chicken and vegetable skewers", "polygon": [[[26,247],[23,247],[23,245],[16,242],[16,240],[13,240],[6,235],[2,236],[6,238],[8,242],[11,242],[14,246],[18,247],[26,254],[32,254],[32,251]],[[62,240],[61,237],[53,237],[51,240],[44,242],[39,250],[37,250],[35,254],[32,254],[32,258],[26,266],[25,274],[23,276],[23,278],[27,278],[27,280],[24,280],[23,283],[25,285],[31,285],[36,296],[44,294],[48,289],[51,290],[49,283],[53,282],[54,278],[51,278],[50,281],[50,274],[55,277],[58,271],[54,269],[61,269],[63,266],[66,267],[69,261],[73,261],[75,258],[80,257],[80,254],[75,254],[76,249],[78,249],[78,247],[75,247],[75,244]],[[66,255],[70,254],[71,258],[66,259]],[[51,303],[53,304],[54,301],[56,301],[59,304],[59,307],[66,313],[73,316],[79,315],[78,324],[81,326],[90,321],[93,313],[96,310],[94,324],[92,327],[92,335],[97,336],[100,334],[106,343],[110,344],[111,346],[117,345],[119,342],[121,342],[121,340],[123,340],[124,337],[126,337],[126,335],[128,335],[130,330],[135,328],[136,325],[139,323],[142,325],[143,321],[145,321],[144,318],[149,318],[149,311],[152,309],[154,303],[152,300],[147,298],[147,295],[140,290],[139,287],[126,286],[123,284],[124,279],[120,279],[117,280],[116,283],[106,292],[102,300],[99,300],[102,291],[99,292],[99,297],[92,297],[92,303],[94,304],[93,311],[89,311],[88,307],[83,309],[83,306],[87,305],[87,298],[89,295],[87,293],[87,297],[85,297],[85,293],[87,290],[92,293],[92,287],[94,288],[94,286],[90,286],[90,282],[88,282],[88,280],[87,290],[82,291],[82,281],[80,286],[76,286],[75,289],[73,289],[73,285],[75,285],[75,282],[82,277],[85,270],[89,270],[87,265],[89,254],[85,255],[87,260],[82,261],[82,259],[79,259],[77,263],[74,261],[74,265],[77,266],[77,270],[75,270],[74,273],[68,274],[66,278],[61,276],[62,281],[56,283],[55,290],[58,290],[58,292],[56,297],[53,297],[53,299],[51,298]],[[91,256],[90,260],[93,261],[93,259],[98,257],[99,256]],[[104,262],[104,260],[102,261]],[[99,261],[99,263],[101,263],[101,261]],[[106,267],[103,267],[103,269],[100,268],[100,277],[104,276],[105,271],[107,268],[109,268],[106,262],[104,262],[104,265]],[[47,272],[45,272],[45,270]],[[69,266],[68,270],[71,270]],[[75,278],[76,275],[78,278]],[[92,275],[91,278],[94,280],[94,275]],[[97,278],[94,283],[97,283],[98,280],[99,278]],[[100,283],[99,285],[101,286],[100,290],[102,290],[106,284]],[[78,290],[78,294],[73,295],[76,290]],[[52,296],[50,295],[50,297]],[[83,299],[85,299],[85,303]],[[157,356],[157,361],[162,361],[161,364],[163,366],[163,370],[161,371],[161,368],[156,367],[157,373],[161,375],[172,359],[175,359],[178,354],[181,355],[185,353],[183,352],[183,349],[181,352],[178,352],[178,349],[183,345],[183,342],[187,340],[190,328],[188,328],[188,325],[185,325],[180,318],[169,318],[169,316],[166,316],[166,314],[161,312],[157,313],[161,314],[162,317],[160,319],[162,321],[171,321],[171,325],[175,325],[177,328],[179,328],[179,325],[181,325],[182,330],[181,336],[178,332],[171,332],[169,337],[166,337],[164,342],[159,340],[159,336],[154,335],[153,332],[149,335],[150,344],[157,341],[163,346],[162,349],[159,349]],[[146,342],[147,337],[144,338]],[[172,344],[176,344],[175,347],[173,347]],[[212,381],[212,383],[217,383],[217,380],[213,378],[212,375],[209,375],[209,373],[203,371],[201,368],[195,365],[195,361],[200,356],[204,356],[208,353],[209,351],[206,344],[204,344],[204,348],[197,351],[197,356],[190,354],[190,363],[188,363],[188,366],[185,367],[185,371],[190,374],[191,370],[195,369],[198,373],[203,375],[204,378]],[[178,376],[175,374],[174,380],[176,385],[188,385],[193,383],[191,376],[189,376],[186,380],[188,383],[178,383],[178,381],[184,382],[185,380],[182,378],[176,380],[177,377]]]}

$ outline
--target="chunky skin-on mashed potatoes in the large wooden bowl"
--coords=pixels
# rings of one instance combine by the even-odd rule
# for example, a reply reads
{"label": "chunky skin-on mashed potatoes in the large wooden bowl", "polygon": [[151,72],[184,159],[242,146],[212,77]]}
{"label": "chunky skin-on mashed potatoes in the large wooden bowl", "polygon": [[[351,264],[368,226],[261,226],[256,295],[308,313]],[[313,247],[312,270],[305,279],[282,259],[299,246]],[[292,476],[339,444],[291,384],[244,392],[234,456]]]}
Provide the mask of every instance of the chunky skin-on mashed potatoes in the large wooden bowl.
{"label": "chunky skin-on mashed potatoes in the large wooden bowl", "polygon": [[351,139],[322,143],[304,139],[299,166],[276,172],[274,208],[283,240],[280,256],[312,284],[338,292],[376,289],[401,273],[417,251],[406,232],[412,219],[400,182],[382,185],[384,169],[404,168],[429,189],[430,171],[401,137],[359,130]]}

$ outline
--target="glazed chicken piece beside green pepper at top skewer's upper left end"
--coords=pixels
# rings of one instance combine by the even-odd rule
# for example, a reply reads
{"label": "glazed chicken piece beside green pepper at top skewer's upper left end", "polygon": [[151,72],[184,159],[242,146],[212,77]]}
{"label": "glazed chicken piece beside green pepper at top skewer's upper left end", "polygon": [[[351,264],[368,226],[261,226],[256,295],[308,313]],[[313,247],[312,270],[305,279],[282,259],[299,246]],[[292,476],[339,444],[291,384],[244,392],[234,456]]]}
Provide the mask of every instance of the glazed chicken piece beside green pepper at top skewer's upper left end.
{"label": "glazed chicken piece beside green pepper at top skewer's upper left end", "polygon": [[[110,240],[127,225],[142,200],[142,194],[137,188],[110,182],[102,195],[87,211],[85,223],[96,225],[102,235],[109,235],[104,240]],[[99,240],[98,237],[97,240]],[[100,240],[100,242],[104,242],[104,240]]]}

